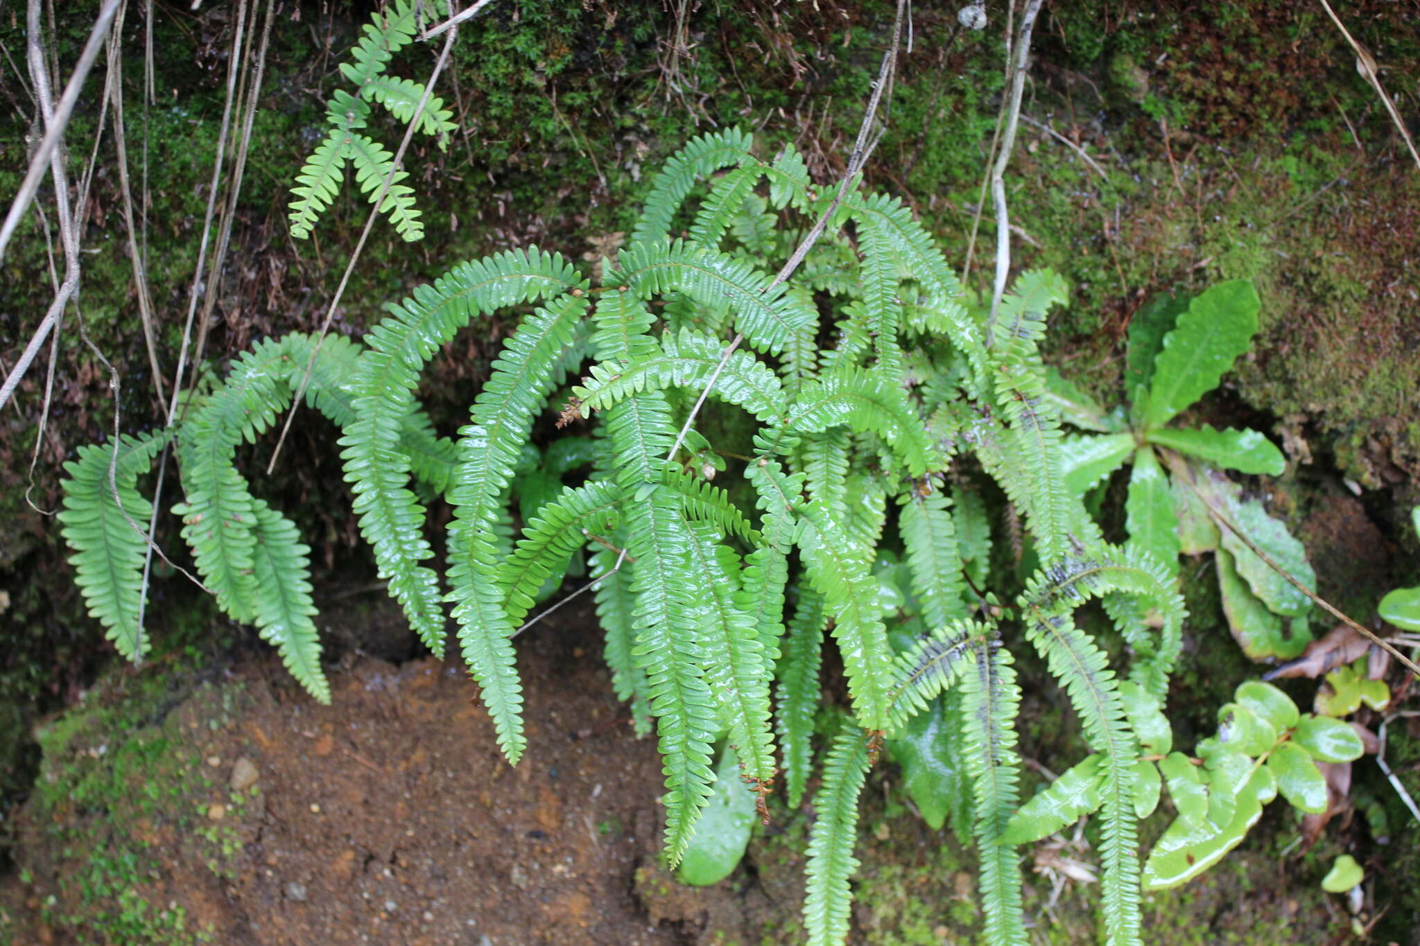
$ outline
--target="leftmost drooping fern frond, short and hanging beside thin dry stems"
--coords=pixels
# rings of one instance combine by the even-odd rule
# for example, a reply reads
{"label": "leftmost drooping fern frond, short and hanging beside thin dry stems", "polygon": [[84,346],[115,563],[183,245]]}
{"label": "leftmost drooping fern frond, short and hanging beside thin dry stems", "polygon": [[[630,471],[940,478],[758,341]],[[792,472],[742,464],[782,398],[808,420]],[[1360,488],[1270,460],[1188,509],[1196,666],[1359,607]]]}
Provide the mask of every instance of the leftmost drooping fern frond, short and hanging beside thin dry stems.
{"label": "leftmost drooping fern frond, short and hanging beside thin dry stems", "polygon": [[[168,437],[162,433],[142,437],[125,434],[119,437],[116,460],[112,444],[80,447],[78,460],[64,464],[68,475],[60,484],[64,489],[60,522],[72,552],[74,583],[80,586],[89,614],[104,625],[108,640],[131,661],[149,651],[148,635],[138,624],[148,543],[128,519],[148,528],[153,505],[135,484],[139,475],[148,472],[165,443]],[[111,464],[115,474],[112,482],[108,477]]]}

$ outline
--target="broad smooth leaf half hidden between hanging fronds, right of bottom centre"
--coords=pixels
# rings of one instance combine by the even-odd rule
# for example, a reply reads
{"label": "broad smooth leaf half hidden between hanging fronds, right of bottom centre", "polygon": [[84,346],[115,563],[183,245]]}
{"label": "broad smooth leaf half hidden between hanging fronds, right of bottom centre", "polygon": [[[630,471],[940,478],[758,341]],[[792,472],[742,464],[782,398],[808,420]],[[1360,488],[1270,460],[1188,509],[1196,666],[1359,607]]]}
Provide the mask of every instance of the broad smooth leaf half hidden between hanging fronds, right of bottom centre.
{"label": "broad smooth leaf half hidden between hanging fronds, right of bottom centre", "polygon": [[961,720],[946,705],[956,694],[933,699],[926,712],[907,723],[900,739],[888,740],[888,752],[902,766],[903,784],[922,820],[940,831],[947,817],[951,830],[967,835],[971,830],[971,783],[961,762]]}

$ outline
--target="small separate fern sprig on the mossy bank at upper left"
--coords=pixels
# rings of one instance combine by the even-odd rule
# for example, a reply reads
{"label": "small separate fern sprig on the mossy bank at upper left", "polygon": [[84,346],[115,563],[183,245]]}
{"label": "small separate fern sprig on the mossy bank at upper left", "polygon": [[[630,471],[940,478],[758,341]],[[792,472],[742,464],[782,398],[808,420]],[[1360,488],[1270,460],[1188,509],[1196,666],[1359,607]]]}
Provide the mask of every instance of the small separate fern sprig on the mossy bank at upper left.
{"label": "small separate fern sprig on the mossy bank at upper left", "polygon": [[[408,241],[423,240],[425,226],[415,208],[415,190],[402,183],[409,172],[395,169],[395,155],[358,129],[366,126],[369,105],[378,102],[389,109],[398,121],[409,123],[415,119],[425,87],[410,79],[385,75],[390,58],[415,38],[416,0],[393,0],[365,24],[359,43],[351,50],[348,62],[341,62],[341,74],[355,85],[355,92],[337,91],[327,102],[328,130],[321,143],[297,174],[291,189],[290,223],[291,235],[307,240],[321,213],[335,200],[341,190],[341,172],[345,162],[355,167],[355,180],[371,203],[379,200],[378,210],[389,217],[395,230]],[[447,148],[449,132],[456,130],[453,112],[444,108],[437,95],[429,96],[419,115],[417,130],[439,140],[439,148]],[[385,180],[389,187],[381,199]]]}

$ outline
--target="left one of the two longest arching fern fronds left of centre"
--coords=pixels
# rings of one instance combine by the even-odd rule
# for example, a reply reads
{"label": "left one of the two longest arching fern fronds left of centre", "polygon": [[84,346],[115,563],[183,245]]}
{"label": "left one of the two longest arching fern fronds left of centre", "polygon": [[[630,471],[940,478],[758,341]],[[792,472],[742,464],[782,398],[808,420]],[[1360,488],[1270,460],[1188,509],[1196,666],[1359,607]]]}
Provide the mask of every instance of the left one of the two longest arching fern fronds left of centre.
{"label": "left one of the two longest arching fern fronds left of centre", "polygon": [[435,573],[419,564],[433,550],[423,538],[423,506],[406,485],[409,458],[399,450],[419,370],[474,315],[581,288],[581,277],[561,255],[537,247],[507,251],[419,286],[366,335],[369,349],[355,383],[356,418],[341,438],[345,479],[381,577],[436,654],[443,652],[442,596]]}

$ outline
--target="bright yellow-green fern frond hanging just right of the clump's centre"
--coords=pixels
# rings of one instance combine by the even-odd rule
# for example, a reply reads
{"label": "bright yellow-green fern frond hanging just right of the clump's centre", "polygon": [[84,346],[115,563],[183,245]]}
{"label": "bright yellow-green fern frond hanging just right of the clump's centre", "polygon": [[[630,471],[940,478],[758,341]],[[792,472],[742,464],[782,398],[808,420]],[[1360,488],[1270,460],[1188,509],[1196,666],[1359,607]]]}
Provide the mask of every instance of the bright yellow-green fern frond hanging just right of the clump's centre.
{"label": "bright yellow-green fern frond hanging just right of the clump's centre", "polygon": [[892,702],[892,647],[882,621],[872,562],[818,502],[799,509],[799,552],[814,589],[834,616],[858,725],[885,729]]}

